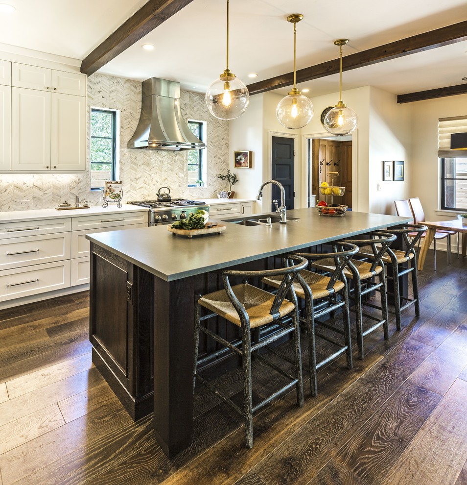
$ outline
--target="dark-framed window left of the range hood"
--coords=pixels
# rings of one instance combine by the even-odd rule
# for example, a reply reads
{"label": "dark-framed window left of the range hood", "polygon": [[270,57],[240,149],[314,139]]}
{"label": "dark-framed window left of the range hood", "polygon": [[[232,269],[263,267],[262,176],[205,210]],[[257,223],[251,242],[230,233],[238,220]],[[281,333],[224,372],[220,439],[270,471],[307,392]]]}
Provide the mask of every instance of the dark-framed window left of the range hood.
{"label": "dark-framed window left of the range hood", "polygon": [[91,109],[91,190],[102,190],[107,180],[117,180],[116,110]]}

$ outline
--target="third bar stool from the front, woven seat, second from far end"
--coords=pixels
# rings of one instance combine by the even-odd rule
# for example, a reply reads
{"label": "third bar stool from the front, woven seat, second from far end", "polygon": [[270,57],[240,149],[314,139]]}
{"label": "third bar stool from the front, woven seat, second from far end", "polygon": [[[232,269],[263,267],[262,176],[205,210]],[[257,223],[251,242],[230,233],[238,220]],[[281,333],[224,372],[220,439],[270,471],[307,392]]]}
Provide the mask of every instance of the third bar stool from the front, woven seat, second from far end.
{"label": "third bar stool from the front, woven seat, second from far end", "polygon": [[[344,275],[347,279],[352,280],[353,288],[349,293],[355,302],[355,317],[356,317],[356,340],[358,348],[358,358],[364,358],[363,351],[363,337],[376,330],[381,325],[384,330],[384,339],[389,339],[389,324],[388,324],[388,305],[386,299],[386,277],[384,264],[381,258],[386,253],[390,244],[396,240],[396,235],[384,232],[370,233],[372,239],[352,239],[345,242],[356,244],[358,247],[370,246],[372,248],[374,258],[371,261],[360,261],[357,259],[350,259],[347,267],[344,268]],[[379,239],[376,241],[375,237]],[[332,259],[324,259],[312,263],[312,267],[321,269],[322,271],[334,271],[335,263]],[[378,277],[378,282],[374,281],[374,277]],[[381,294],[381,319],[373,315],[364,314],[362,311],[362,296],[371,291],[379,291]],[[376,323],[371,327],[363,330],[363,315]]]}

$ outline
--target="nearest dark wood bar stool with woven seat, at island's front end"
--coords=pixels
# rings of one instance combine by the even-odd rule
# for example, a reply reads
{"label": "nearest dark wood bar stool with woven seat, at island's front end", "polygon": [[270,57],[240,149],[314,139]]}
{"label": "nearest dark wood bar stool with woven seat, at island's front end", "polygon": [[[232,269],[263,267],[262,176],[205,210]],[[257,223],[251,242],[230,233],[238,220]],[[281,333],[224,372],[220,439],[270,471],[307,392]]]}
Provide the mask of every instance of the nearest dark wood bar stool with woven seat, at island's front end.
{"label": "nearest dark wood bar stool with woven seat, at island's front end", "polygon": [[[287,266],[279,269],[265,269],[262,271],[241,271],[226,269],[220,271],[224,283],[224,289],[214,291],[197,299],[195,303],[195,345],[194,345],[194,380],[196,379],[209,388],[214,394],[223,399],[233,409],[241,414],[245,419],[245,444],[248,448],[253,446],[253,412],[262,408],[267,403],[292,387],[297,390],[297,402],[303,406],[303,378],[302,378],[302,354],[300,349],[300,324],[298,320],[297,296],[293,289],[293,282],[298,273],[304,269],[308,261],[300,256],[287,255]],[[244,281],[242,284],[231,286],[230,278],[262,278],[281,276],[282,282],[276,294],[261,290]],[[286,299],[287,297],[287,299]],[[201,316],[201,307],[210,310],[207,315]],[[228,342],[210,329],[201,325],[203,320],[212,316],[222,316],[233,325],[240,327],[241,337],[237,341]],[[284,318],[285,317],[285,318]],[[276,324],[279,330],[268,335],[263,340],[255,343],[251,341],[251,330],[258,329],[264,325]],[[212,339],[224,346],[216,352],[209,354],[198,360],[199,332],[202,331]],[[259,333],[259,332],[258,332]],[[268,346],[273,341],[281,339],[285,335],[292,333],[294,341],[294,375],[270,362],[263,355],[258,354],[258,349]],[[228,350],[239,354],[242,358],[243,370],[243,410],[237,406],[229,397],[220,392],[214,385],[204,379],[197,372],[199,364],[209,362],[219,355],[225,354]],[[279,352],[274,352],[280,355]],[[253,406],[252,402],[252,375],[251,375],[251,356],[252,354],[271,368],[287,377],[290,382],[275,391],[269,397]]]}

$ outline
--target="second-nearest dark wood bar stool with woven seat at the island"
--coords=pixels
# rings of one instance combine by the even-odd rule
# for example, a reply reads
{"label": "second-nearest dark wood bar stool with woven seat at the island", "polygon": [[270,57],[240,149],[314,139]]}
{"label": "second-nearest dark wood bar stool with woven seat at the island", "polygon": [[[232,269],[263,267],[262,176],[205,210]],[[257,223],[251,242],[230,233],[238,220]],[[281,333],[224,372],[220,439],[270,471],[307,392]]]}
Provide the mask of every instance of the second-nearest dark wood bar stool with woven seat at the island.
{"label": "second-nearest dark wood bar stool with woven seat at the island", "polygon": [[[301,324],[306,329],[308,339],[308,361],[310,373],[311,395],[318,393],[317,370],[329,364],[342,354],[346,353],[347,367],[352,368],[352,346],[350,340],[350,318],[349,318],[349,295],[347,281],[343,275],[344,267],[349,259],[357,252],[358,247],[348,242],[334,242],[332,253],[294,253],[297,256],[306,258],[309,262],[332,258],[335,269],[329,275],[323,275],[303,269],[293,284],[297,296],[305,300],[304,316],[300,317]],[[274,288],[279,288],[280,276],[266,277],[262,282]],[[318,318],[342,308],[343,331],[337,330]],[[344,341],[337,341],[329,335],[317,331],[316,327],[321,325],[344,335]],[[327,340],[338,347],[334,353],[328,355],[320,362],[316,362],[316,337]]]}

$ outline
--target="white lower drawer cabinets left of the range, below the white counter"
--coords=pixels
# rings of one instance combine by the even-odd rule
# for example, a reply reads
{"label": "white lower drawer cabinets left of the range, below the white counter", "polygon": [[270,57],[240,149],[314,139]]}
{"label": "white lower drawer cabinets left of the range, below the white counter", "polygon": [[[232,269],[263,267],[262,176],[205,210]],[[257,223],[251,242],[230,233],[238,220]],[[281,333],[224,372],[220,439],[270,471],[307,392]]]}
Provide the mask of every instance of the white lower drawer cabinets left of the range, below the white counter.
{"label": "white lower drawer cabinets left of the range, below the white counter", "polygon": [[88,284],[86,234],[147,225],[147,211],[1,222],[0,302]]}

